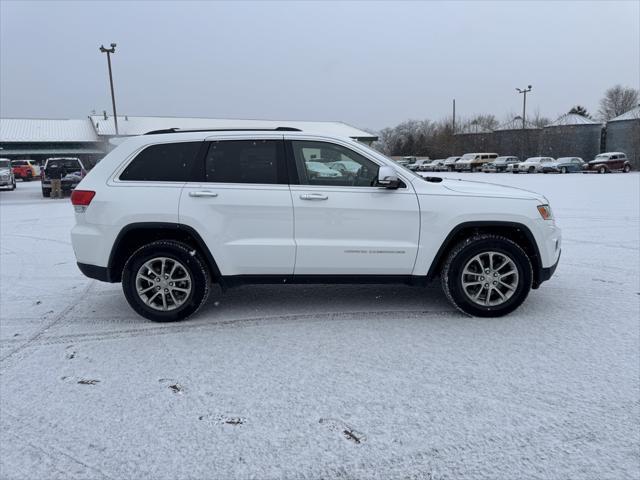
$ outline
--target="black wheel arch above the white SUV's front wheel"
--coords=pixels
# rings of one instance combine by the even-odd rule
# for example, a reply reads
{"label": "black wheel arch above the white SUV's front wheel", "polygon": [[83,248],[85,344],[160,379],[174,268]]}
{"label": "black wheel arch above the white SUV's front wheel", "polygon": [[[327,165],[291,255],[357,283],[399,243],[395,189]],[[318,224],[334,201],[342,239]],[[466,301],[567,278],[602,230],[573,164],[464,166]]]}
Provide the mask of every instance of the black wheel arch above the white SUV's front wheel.
{"label": "black wheel arch above the white SUV's front wheel", "polygon": [[433,280],[440,274],[447,253],[451,251],[456,244],[465,238],[482,233],[502,235],[516,242],[531,260],[531,266],[533,267],[533,288],[535,289],[540,286],[543,282],[542,259],[533,233],[522,223],[501,221],[464,222],[456,225],[445,237],[433,258],[429,271],[427,272],[427,280]]}

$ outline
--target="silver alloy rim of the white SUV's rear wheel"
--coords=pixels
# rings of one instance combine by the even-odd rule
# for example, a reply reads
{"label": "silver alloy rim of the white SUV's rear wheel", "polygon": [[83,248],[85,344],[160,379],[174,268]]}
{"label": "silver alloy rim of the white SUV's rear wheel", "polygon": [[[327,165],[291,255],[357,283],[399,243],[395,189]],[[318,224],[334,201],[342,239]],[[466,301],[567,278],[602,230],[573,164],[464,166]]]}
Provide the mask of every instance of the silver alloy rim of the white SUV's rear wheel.
{"label": "silver alloy rim of the white SUV's rear wheel", "polygon": [[136,274],[136,292],[154,310],[168,312],[179,308],[191,295],[191,288],[189,271],[174,258],[152,258]]}

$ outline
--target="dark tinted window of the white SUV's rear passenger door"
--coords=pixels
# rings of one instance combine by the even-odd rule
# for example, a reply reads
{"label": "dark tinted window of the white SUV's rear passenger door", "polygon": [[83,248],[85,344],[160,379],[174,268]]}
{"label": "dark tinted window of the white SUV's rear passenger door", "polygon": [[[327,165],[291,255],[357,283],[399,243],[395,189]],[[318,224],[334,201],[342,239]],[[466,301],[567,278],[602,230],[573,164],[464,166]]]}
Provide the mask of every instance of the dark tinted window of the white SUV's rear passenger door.
{"label": "dark tinted window of the white SUV's rear passenger door", "polygon": [[282,140],[211,142],[205,181],[217,183],[288,183]]}

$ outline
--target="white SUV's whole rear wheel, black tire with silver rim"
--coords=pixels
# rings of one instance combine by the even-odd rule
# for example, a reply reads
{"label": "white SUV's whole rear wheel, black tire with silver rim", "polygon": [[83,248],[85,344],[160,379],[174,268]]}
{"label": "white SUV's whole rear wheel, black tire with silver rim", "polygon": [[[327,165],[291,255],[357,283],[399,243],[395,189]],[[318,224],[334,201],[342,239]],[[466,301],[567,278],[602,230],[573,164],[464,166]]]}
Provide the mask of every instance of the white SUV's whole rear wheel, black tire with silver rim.
{"label": "white SUV's whole rear wheel, black tire with silver rim", "polygon": [[159,240],[136,250],[122,271],[124,295],[138,314],[155,322],[193,315],[207,300],[211,279],[194,248]]}

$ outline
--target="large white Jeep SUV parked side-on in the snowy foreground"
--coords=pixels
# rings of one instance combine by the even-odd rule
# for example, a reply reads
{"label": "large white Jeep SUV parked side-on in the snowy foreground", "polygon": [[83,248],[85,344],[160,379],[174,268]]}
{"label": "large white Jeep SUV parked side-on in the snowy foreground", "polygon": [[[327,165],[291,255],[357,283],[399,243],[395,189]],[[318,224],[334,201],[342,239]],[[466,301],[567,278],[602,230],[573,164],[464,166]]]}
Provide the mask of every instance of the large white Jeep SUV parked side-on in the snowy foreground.
{"label": "large white Jeep SUV parked side-on in the snowy foreground", "polygon": [[[71,200],[91,278],[122,282],[142,316],[181,320],[212,282],[424,285],[505,315],[555,271],[547,199],[420,177],[356,141],[290,128],[151,132],[109,153]],[[318,158],[357,168],[318,175]]]}

